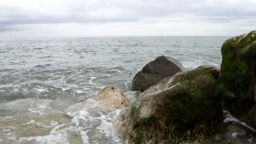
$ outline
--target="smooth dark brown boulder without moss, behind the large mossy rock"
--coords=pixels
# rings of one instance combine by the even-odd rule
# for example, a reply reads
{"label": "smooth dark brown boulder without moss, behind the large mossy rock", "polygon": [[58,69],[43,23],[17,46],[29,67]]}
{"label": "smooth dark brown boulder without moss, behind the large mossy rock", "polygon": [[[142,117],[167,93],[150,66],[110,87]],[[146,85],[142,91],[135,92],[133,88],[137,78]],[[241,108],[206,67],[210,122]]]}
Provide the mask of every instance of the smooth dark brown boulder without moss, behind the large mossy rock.
{"label": "smooth dark brown boulder without moss, behind the large mossy rock", "polygon": [[145,91],[149,87],[156,85],[162,79],[173,76],[183,69],[182,64],[176,59],[160,56],[145,65],[143,69],[133,77],[132,89]]}

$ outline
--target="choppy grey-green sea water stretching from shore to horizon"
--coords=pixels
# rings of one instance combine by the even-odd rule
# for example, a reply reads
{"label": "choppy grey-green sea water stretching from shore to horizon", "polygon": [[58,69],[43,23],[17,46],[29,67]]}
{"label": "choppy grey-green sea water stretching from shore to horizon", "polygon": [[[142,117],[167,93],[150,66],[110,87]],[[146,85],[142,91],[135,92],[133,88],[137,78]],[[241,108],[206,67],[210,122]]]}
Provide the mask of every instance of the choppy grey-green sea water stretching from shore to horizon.
{"label": "choppy grey-green sea water stretching from shore to horizon", "polygon": [[90,109],[82,102],[108,85],[133,100],[133,76],[161,55],[186,69],[219,66],[228,38],[0,39],[0,143],[125,143],[111,123],[124,109]]}

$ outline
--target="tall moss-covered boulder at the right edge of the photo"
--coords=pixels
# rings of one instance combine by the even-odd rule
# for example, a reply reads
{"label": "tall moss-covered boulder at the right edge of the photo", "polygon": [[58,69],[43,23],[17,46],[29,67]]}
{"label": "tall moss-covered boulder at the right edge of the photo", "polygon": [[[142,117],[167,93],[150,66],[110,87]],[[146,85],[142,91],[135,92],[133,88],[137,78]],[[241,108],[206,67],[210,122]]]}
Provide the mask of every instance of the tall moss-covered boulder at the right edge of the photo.
{"label": "tall moss-covered boulder at the right edge of the photo", "polygon": [[223,100],[233,115],[256,128],[256,31],[226,40],[222,57]]}

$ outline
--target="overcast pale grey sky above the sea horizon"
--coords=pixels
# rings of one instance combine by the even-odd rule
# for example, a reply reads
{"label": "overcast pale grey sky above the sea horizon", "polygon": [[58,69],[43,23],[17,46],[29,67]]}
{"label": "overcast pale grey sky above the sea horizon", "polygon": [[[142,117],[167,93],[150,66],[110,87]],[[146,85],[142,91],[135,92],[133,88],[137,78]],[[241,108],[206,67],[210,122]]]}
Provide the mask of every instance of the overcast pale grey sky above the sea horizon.
{"label": "overcast pale grey sky above the sea horizon", "polygon": [[231,36],[256,29],[254,0],[0,0],[0,36]]}

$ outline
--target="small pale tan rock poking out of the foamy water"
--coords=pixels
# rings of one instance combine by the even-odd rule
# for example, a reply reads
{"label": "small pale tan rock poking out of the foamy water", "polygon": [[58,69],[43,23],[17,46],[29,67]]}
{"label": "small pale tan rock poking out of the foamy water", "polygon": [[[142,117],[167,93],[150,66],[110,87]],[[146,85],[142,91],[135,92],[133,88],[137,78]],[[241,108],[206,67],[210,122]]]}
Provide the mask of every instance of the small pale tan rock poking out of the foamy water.
{"label": "small pale tan rock poking out of the foamy water", "polygon": [[98,93],[96,100],[105,105],[114,105],[117,108],[130,106],[130,102],[124,93],[113,86],[103,88],[101,92]]}

